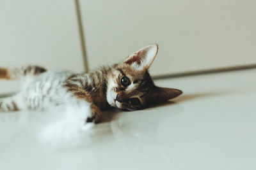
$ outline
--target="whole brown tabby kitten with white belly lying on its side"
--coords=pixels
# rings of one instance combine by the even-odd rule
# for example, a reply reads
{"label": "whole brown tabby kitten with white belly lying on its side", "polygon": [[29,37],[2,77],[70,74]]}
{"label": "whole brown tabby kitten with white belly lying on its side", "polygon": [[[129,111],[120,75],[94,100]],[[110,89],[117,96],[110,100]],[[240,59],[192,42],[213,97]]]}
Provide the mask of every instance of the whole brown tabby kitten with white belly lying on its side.
{"label": "whole brown tabby kitten with white belly lying on its side", "polygon": [[157,51],[155,44],[145,46],[119,64],[80,74],[40,66],[0,67],[0,78],[24,81],[20,92],[0,99],[0,111],[47,110],[86,101],[92,113],[84,121],[99,123],[102,111],[111,107],[133,111],[168,101],[182,91],[154,85],[148,68]]}

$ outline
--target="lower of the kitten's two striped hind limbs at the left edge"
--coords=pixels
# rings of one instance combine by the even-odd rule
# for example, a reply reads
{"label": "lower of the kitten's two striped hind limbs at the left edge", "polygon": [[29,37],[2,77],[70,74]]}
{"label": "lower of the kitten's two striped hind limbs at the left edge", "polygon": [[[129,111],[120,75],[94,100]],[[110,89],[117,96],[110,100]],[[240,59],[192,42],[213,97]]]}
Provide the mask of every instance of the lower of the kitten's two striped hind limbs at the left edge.
{"label": "lower of the kitten's two striped hind limbs at the left edge", "polygon": [[18,111],[26,108],[21,94],[0,98],[0,111]]}

